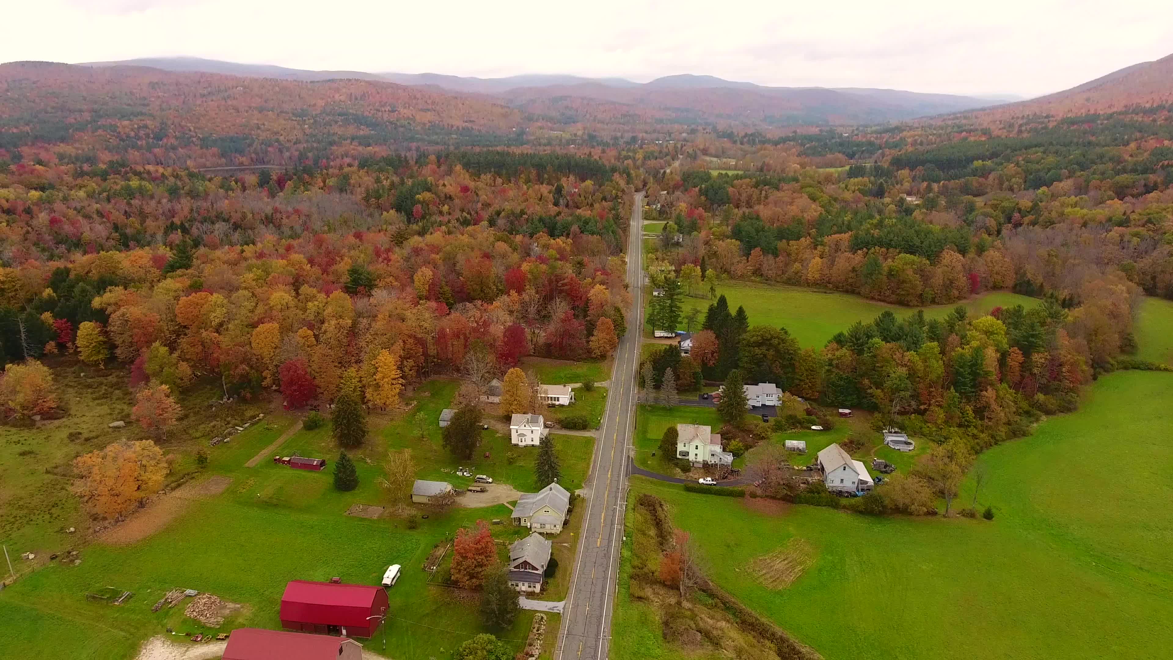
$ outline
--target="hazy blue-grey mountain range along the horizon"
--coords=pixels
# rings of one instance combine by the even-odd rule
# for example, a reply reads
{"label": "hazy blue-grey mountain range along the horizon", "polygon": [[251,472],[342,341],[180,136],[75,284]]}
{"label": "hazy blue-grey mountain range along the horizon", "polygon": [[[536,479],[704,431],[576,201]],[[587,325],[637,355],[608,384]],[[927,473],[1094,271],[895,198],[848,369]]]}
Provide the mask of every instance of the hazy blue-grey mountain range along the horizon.
{"label": "hazy blue-grey mountain range along the horizon", "polygon": [[198,58],[144,58],[84,66],[141,66],[248,78],[323,81],[359,79],[426,87],[495,101],[556,123],[612,123],[631,117],[666,123],[765,126],[902,121],[995,105],[1004,99],[921,94],[897,89],[768,87],[711,75],[670,75],[639,83],[621,78],[514,75],[466,78],[433,73],[305,70]]}

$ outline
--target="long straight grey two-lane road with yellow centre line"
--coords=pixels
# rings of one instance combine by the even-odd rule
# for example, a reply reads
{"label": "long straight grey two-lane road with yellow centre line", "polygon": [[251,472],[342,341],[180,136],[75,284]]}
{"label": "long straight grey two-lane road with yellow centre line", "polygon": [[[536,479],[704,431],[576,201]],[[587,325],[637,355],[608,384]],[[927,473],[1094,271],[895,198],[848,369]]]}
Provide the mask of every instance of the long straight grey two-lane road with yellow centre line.
{"label": "long straight grey two-lane road with yellow centre line", "polygon": [[[636,193],[628,243],[628,283],[632,310],[628,332],[619,339],[603,424],[586,483],[586,518],[578,537],[578,554],[570,594],[562,613],[557,660],[602,660],[611,646],[611,610],[619,570],[623,512],[628,494],[628,447],[635,430],[636,370],[643,328],[644,194]],[[579,505],[582,506],[582,505]]]}

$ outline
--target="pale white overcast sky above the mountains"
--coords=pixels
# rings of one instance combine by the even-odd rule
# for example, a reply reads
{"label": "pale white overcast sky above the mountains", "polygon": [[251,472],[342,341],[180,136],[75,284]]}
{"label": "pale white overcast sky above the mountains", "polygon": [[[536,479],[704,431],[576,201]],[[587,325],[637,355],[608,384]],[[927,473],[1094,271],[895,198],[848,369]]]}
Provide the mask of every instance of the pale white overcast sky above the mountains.
{"label": "pale white overcast sky above the mountains", "polygon": [[35,0],[4,14],[0,61],[192,55],[1023,96],[1173,53],[1168,0]]}

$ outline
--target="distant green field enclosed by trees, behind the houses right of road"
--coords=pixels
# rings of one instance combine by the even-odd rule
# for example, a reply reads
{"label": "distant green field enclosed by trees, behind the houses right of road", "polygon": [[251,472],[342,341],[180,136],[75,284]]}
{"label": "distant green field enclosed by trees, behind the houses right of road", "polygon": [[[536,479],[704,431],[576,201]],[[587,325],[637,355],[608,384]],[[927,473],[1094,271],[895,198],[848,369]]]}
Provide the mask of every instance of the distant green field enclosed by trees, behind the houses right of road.
{"label": "distant green field enclosed by trees, behind the houses right of road", "polygon": [[[907,316],[917,309],[890,305],[838,291],[752,282],[726,282],[717,287],[717,295],[726,297],[731,310],[737,310],[738,305],[745,307],[751,326],[786,328],[804,346],[822,346],[836,332],[846,331],[856,321],[872,321],[886,310],[891,310],[896,316]],[[705,310],[716,299],[685,296],[682,299],[682,308],[684,314],[693,308],[700,310],[699,325],[704,322]],[[971,316],[977,316],[989,314],[996,307],[1016,304],[1029,307],[1037,304],[1037,301],[1009,291],[990,291],[960,303],[920,309],[923,309],[929,318],[942,318],[958,304],[969,309]],[[683,315],[679,329],[685,329]],[[650,325],[644,326],[644,335],[651,336]]]}

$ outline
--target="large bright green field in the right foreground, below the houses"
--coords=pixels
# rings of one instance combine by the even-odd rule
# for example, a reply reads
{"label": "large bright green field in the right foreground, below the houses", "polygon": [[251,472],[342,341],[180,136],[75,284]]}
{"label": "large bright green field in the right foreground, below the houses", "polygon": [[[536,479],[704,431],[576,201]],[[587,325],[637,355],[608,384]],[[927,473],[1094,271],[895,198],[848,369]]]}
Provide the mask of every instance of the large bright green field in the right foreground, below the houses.
{"label": "large bright green field in the right foreground, below the houses", "polygon": [[[710,577],[828,659],[1166,656],[1169,429],[1173,375],[1101,377],[1078,412],[979,458],[994,521],[769,510],[640,477],[632,496],[665,499]],[[748,563],[794,537],[814,564],[789,588],[762,586]],[[655,612],[621,595],[615,656],[680,656],[644,628],[659,629]]]}

